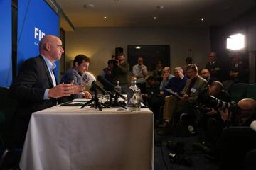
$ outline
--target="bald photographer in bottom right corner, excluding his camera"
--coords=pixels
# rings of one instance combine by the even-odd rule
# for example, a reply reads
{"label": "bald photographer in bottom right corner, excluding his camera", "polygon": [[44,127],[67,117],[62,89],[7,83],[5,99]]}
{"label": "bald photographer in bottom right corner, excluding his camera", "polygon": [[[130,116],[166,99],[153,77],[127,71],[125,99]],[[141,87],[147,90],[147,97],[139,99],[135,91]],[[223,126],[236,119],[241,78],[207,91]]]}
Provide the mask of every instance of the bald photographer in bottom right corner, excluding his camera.
{"label": "bald photographer in bottom right corner, excluding his camera", "polygon": [[[242,166],[255,169],[250,164],[244,164],[244,160],[245,154],[256,148],[256,132],[250,129],[250,124],[256,120],[256,101],[245,98],[238,102],[238,106],[239,111],[232,115],[233,127],[223,130],[220,137],[220,169],[243,169]],[[225,122],[230,121],[227,111],[221,112],[221,115]]]}

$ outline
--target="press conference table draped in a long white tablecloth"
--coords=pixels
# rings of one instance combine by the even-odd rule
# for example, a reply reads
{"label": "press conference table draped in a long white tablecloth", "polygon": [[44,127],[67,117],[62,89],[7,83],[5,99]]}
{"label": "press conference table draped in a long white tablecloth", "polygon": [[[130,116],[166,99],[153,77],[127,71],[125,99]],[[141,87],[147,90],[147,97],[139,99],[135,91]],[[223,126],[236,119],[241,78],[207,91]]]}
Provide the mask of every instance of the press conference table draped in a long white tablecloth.
{"label": "press conference table draped in a long white tablecloth", "polygon": [[154,118],[148,108],[54,106],[31,115],[21,170],[149,170]]}

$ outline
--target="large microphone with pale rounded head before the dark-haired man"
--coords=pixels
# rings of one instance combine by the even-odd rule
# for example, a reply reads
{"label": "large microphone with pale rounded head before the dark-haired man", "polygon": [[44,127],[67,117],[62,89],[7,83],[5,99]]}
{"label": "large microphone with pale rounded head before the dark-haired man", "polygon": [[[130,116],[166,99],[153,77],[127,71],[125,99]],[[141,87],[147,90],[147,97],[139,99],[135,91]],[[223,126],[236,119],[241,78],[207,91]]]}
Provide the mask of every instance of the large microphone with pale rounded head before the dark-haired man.
{"label": "large microphone with pale rounded head before the dark-haired man", "polygon": [[107,91],[105,91],[105,89],[97,85],[95,76],[90,72],[85,72],[84,74],[82,74],[82,85],[92,86],[92,88],[100,90],[102,94],[108,94]]}

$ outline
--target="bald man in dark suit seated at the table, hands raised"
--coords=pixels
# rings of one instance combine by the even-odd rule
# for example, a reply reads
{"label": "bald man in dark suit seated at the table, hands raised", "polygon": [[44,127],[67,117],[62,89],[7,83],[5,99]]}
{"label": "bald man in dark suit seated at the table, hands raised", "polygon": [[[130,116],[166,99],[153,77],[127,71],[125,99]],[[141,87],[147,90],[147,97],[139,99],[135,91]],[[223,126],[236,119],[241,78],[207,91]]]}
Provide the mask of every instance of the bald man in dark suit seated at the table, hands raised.
{"label": "bald man in dark suit seated at the table, hands raised", "polygon": [[58,103],[58,98],[81,91],[81,86],[58,84],[53,69],[64,50],[60,38],[46,35],[39,44],[40,55],[23,62],[16,80],[11,84],[11,96],[18,101],[10,145],[23,147],[31,114]]}

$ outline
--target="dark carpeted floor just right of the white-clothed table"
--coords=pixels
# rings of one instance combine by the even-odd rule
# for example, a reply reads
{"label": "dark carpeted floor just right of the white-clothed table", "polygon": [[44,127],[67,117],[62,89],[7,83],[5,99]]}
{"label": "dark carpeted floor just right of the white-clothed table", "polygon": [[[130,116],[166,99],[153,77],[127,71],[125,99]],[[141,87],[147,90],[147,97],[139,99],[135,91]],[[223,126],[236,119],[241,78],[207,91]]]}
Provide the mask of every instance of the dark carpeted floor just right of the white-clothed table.
{"label": "dark carpeted floor just right of the white-clothed table", "polygon": [[[167,141],[183,142],[185,157],[191,159],[192,166],[186,166],[171,162],[169,159],[170,150],[166,147]],[[217,170],[218,164],[206,157],[203,152],[192,147],[193,142],[198,142],[198,135],[193,137],[175,137],[174,135],[159,136],[155,130],[154,145],[154,170]]]}

